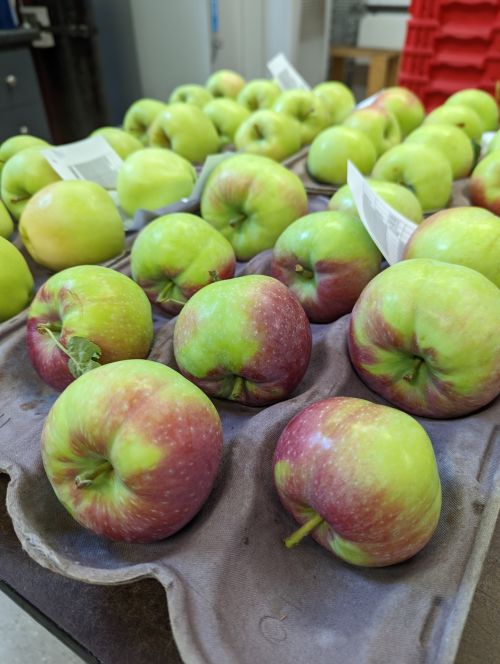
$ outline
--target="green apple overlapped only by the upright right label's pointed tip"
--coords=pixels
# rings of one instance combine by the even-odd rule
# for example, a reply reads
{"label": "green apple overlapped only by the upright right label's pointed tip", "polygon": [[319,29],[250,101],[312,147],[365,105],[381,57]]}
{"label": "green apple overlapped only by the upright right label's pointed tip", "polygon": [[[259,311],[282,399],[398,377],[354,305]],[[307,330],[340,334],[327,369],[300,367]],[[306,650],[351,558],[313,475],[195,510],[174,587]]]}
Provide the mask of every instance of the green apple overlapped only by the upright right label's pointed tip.
{"label": "green apple overlapped only by the upright right label's pointed tip", "polygon": [[371,140],[358,129],[330,127],[316,136],[307,155],[307,170],[319,182],[347,182],[347,162],[369,175],[377,160]]}

